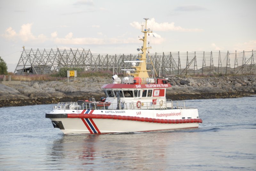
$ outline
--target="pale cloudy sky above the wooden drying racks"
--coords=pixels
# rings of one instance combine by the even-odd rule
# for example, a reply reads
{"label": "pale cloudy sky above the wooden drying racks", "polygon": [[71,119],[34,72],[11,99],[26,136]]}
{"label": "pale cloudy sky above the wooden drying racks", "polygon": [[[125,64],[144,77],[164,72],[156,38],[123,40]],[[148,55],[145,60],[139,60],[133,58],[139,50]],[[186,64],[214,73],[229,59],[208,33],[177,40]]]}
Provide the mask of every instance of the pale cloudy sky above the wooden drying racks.
{"label": "pale cloudy sky above the wooden drying racks", "polygon": [[150,53],[255,50],[256,0],[0,0],[0,56],[25,49],[135,54],[148,19]]}

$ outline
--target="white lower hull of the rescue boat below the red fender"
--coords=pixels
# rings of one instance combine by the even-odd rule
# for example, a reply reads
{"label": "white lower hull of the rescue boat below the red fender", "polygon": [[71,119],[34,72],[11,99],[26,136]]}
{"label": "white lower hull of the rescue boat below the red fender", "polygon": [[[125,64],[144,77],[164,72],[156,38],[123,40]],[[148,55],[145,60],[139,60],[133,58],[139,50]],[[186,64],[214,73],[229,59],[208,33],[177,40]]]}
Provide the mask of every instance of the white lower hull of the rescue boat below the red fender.
{"label": "white lower hull of the rescue boat below the red fender", "polygon": [[[58,120],[58,119],[56,119]],[[94,128],[90,130],[86,128],[82,119],[65,118],[62,123],[65,130],[61,130],[64,134],[106,134],[106,133],[124,133],[124,132],[143,132],[143,131],[156,131],[180,128],[198,128],[198,123],[178,123],[178,124],[165,124],[165,123],[152,123],[140,122],[133,120],[114,120],[114,119],[92,119],[96,124],[100,133]]]}

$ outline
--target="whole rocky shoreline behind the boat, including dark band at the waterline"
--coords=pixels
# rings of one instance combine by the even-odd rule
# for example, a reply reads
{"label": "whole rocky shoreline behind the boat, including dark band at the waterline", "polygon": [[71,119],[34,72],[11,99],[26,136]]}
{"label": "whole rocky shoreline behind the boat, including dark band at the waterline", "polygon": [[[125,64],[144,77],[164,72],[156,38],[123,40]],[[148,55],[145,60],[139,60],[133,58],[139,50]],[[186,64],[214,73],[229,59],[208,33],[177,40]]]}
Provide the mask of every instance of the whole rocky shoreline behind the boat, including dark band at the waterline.
{"label": "whole rocky shoreline behind the boat, including dark band at the waterline", "polygon": [[[166,76],[172,100],[236,98],[256,95],[256,75],[221,77]],[[32,81],[0,84],[0,107],[55,104],[105,96],[100,87],[111,83],[102,77],[76,78],[76,81]]]}

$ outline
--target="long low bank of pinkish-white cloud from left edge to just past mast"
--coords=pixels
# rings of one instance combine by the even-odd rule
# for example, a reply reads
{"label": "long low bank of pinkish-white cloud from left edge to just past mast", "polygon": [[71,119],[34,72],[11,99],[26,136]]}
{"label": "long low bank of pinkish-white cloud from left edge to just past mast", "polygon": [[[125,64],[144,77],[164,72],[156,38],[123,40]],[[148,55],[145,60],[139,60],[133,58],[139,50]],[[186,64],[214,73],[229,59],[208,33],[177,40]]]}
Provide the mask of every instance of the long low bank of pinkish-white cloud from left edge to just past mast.
{"label": "long low bank of pinkish-white cloud from left edge to just past mast", "polygon": [[[141,43],[138,37],[131,36],[129,33],[125,33],[122,36],[115,36],[112,38],[93,38],[93,37],[73,37],[73,33],[69,32],[64,37],[58,37],[58,32],[54,31],[51,33],[50,36],[45,36],[44,34],[33,35],[31,32],[33,24],[23,24],[19,33],[16,33],[12,27],[9,27],[5,30],[4,35],[2,35],[7,40],[21,40],[22,43],[29,42],[29,43],[44,43],[45,41],[49,41],[57,45],[88,45],[88,44],[128,44],[128,43]],[[94,26],[100,27],[100,26]],[[102,36],[102,32],[98,32],[97,35]],[[153,36],[154,35],[154,36]],[[155,44],[160,44],[164,41],[161,35],[157,33],[150,33],[149,38],[152,38]]]}

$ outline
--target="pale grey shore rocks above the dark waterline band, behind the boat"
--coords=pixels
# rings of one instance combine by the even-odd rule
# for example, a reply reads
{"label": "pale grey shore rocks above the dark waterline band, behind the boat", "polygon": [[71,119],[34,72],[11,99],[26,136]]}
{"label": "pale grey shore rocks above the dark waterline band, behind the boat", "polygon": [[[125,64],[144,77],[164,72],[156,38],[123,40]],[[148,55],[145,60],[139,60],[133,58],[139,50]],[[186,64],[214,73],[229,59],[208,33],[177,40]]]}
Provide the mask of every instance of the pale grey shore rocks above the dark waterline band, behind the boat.
{"label": "pale grey shore rocks above the dark waterline band, behind the boat", "polygon": [[[248,91],[256,92],[256,76],[170,77],[170,94],[197,94],[198,92]],[[243,82],[241,82],[243,80]],[[111,78],[91,77],[67,81],[32,81],[20,85],[0,84],[0,98],[65,97],[88,93],[102,93],[100,87],[112,83]]]}

